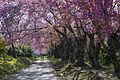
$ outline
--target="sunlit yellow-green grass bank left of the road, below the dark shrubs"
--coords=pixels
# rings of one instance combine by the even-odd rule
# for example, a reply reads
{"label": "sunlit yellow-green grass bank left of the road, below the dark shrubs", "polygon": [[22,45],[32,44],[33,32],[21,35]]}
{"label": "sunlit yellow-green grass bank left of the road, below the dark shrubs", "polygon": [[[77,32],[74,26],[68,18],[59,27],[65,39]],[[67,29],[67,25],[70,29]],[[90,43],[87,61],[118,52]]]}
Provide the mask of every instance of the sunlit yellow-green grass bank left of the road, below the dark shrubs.
{"label": "sunlit yellow-green grass bank left of the road, below the dark shrubs", "polygon": [[19,57],[19,58],[12,58],[10,60],[3,61],[0,60],[0,78],[8,78],[11,74],[15,74],[21,69],[29,66],[33,60],[36,58],[27,58],[27,57]]}

